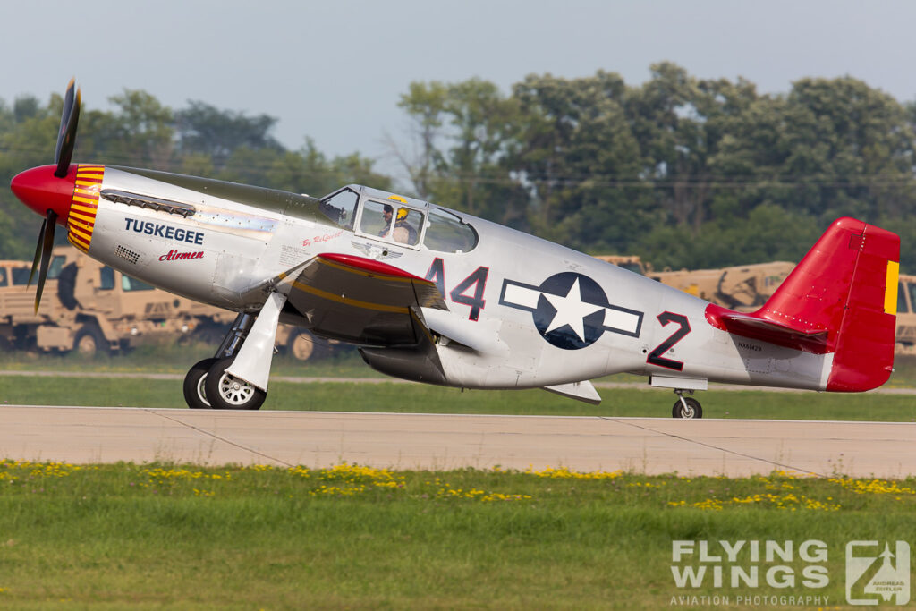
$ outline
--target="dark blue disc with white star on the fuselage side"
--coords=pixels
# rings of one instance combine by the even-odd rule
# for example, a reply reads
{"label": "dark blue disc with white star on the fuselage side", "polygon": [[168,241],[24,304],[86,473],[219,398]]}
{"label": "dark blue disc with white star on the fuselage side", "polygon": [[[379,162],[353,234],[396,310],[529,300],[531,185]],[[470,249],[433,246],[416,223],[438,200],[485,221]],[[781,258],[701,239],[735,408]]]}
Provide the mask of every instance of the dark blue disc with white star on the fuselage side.
{"label": "dark blue disc with white star on the fuselage side", "polygon": [[605,333],[607,296],[592,278],[562,272],[540,284],[534,324],[545,340],[564,350],[594,344]]}

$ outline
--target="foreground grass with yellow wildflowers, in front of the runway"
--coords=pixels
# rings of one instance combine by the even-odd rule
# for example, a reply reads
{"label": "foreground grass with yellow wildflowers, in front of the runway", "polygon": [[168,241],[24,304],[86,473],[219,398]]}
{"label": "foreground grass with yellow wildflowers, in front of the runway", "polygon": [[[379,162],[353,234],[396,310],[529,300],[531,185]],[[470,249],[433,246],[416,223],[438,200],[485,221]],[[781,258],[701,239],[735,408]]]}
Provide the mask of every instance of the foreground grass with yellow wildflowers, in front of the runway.
{"label": "foreground grass with yellow wildflowers, in front of the runway", "polygon": [[[678,588],[673,540],[821,540],[825,587],[761,578],[749,593],[842,604],[845,542],[916,540],[914,488],[787,474],[5,461],[0,606],[657,608],[736,594]],[[801,580],[797,554],[780,564]]]}

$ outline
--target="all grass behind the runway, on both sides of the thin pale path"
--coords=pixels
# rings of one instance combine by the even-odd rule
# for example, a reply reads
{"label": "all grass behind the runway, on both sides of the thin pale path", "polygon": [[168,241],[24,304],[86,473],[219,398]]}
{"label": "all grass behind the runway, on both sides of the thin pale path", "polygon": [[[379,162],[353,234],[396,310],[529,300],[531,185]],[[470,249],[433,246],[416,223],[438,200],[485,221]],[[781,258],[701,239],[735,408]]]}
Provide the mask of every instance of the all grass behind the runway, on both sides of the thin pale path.
{"label": "all grass behind the runway, on both sides of the thin pale path", "polygon": [[[210,355],[211,346],[143,346],[127,355],[100,355],[91,360],[75,355],[0,355],[7,371],[66,371],[117,374],[169,373],[183,376],[187,367]],[[899,358],[887,387],[916,387],[916,358]],[[342,351],[308,365],[275,357],[274,376],[376,377],[353,351]],[[599,382],[646,384],[640,376],[608,376]],[[541,390],[464,391],[456,388],[394,383],[272,382],[263,409],[403,411],[432,413],[494,413],[566,416],[668,417],[673,393],[660,389],[601,388],[599,406],[561,398]],[[716,389],[697,394],[706,418],[785,420],[916,421],[916,400],[906,395],[772,393]],[[0,404],[137,406],[185,408],[180,380],[142,378],[74,378],[0,376]]]}

